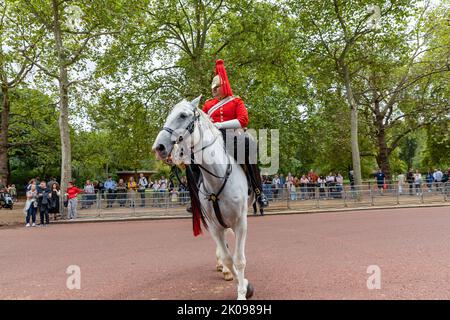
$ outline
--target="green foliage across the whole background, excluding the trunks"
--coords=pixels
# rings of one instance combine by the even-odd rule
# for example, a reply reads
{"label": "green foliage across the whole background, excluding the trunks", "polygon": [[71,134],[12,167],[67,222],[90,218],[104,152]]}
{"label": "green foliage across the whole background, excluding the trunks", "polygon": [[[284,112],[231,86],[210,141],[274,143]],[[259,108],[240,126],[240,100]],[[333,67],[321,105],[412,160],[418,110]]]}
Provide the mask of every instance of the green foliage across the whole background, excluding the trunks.
{"label": "green foliage across the whole background, excluding the trunks", "polygon": [[[26,84],[11,92],[12,176],[59,175],[59,93],[49,80],[59,68],[54,37],[40,27],[29,5],[7,3],[24,27],[6,26],[2,41],[18,50],[21,41],[39,40],[38,63],[47,70],[35,66]],[[50,1],[25,3],[51,17]],[[210,97],[216,59],[226,62],[233,92],[248,108],[249,127],[280,131],[281,172],[314,169],[345,176],[352,157],[349,105],[336,65],[343,53],[359,109],[363,177],[379,165],[381,131],[393,173],[449,165],[445,3],[422,15],[421,2],[412,0],[335,1],[347,35],[334,2],[58,3],[66,59],[75,59],[69,66],[69,94],[72,166],[79,182],[101,180],[117,170],[152,169],[168,176],[168,167],[151,152],[152,143],[175,103],[200,94],[202,102]],[[368,5],[381,8],[378,29],[365,23]],[[352,35],[358,36],[347,47]],[[429,50],[411,62],[414,37],[426,40]],[[20,55],[15,59],[22,61]]]}

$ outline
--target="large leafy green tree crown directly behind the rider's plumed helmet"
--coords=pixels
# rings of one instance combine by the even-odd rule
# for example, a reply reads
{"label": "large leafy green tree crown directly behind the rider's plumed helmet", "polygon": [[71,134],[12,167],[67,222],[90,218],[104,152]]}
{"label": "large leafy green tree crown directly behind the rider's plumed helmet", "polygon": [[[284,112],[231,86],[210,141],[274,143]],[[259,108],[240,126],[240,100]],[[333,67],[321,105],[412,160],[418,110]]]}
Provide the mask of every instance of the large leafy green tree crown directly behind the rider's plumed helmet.
{"label": "large leafy green tree crown directly behind the rider's plumed helmet", "polygon": [[[236,0],[210,1],[209,6],[200,0],[155,1],[144,2],[139,10],[146,15],[137,14],[129,22],[142,27],[125,27],[103,57],[98,75],[111,84],[129,75],[130,81],[105,90],[105,95],[140,100],[156,124],[149,128],[152,138],[181,98],[210,95],[214,61],[221,58],[234,93],[247,105],[250,127],[280,129],[284,141],[295,140],[303,79],[293,54],[295,30],[278,6]],[[128,109],[127,103],[116,105],[112,117]],[[102,110],[109,112],[105,105]],[[109,118],[99,113],[97,120],[102,115]],[[282,165],[293,161],[295,146],[282,144]]]}

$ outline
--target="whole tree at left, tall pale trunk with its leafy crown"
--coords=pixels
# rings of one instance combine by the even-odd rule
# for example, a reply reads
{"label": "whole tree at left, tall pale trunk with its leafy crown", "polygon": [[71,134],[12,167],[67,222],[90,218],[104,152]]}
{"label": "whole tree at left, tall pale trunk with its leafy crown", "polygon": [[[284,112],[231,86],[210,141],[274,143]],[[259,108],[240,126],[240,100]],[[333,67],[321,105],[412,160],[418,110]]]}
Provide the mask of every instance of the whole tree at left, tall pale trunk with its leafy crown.
{"label": "whole tree at left, tall pale trunk with its leafy crown", "polygon": [[[58,1],[25,0],[23,13],[33,15],[47,32],[39,48],[40,58],[23,57],[47,77],[58,83],[59,130],[61,139],[61,188],[72,179],[70,142],[70,89],[85,79],[88,53],[105,43],[108,35],[117,33],[121,3],[118,1]],[[103,38],[102,38],[103,37]],[[103,41],[102,41],[103,40]],[[72,71],[72,72],[71,72]]]}

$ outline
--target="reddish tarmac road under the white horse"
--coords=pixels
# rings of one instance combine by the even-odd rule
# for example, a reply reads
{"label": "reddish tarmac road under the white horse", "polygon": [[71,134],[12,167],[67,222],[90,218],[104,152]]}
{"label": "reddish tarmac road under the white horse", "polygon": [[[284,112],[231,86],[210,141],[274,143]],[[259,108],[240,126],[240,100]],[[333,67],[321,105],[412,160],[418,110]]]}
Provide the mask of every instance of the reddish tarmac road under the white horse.
{"label": "reddish tarmac road under the white horse", "polygon": [[[251,217],[246,253],[254,299],[449,299],[450,207]],[[80,290],[66,287],[69,265]],[[236,296],[187,219],[0,229],[1,299]]]}

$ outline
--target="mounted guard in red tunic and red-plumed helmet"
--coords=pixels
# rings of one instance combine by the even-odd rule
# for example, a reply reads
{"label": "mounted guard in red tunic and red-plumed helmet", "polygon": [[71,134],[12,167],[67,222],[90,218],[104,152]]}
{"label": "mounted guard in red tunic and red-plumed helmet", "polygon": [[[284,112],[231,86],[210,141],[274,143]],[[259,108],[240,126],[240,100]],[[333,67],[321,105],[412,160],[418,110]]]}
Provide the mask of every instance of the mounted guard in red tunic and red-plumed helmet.
{"label": "mounted guard in red tunic and red-plumed helmet", "polygon": [[[238,143],[238,141],[245,143],[245,164],[241,165],[243,166],[244,171],[249,175],[249,180],[259,205],[263,208],[267,207],[268,200],[262,192],[263,189],[259,167],[256,163],[250,163],[248,156],[250,148],[256,150],[256,142],[246,133],[243,134],[244,139],[240,139],[238,138],[239,134],[235,134],[234,132],[237,129],[243,129],[245,131],[249,119],[247,108],[242,99],[233,96],[223,60],[216,61],[216,75],[211,84],[211,91],[213,98],[206,101],[202,110],[208,114],[214,125],[222,132],[226,145],[228,140],[231,140],[230,142],[234,141],[233,145],[227,147],[229,152],[232,152],[235,157],[237,155],[236,152],[233,152],[234,145]],[[231,139],[227,139],[227,135],[231,135]],[[247,146],[249,147],[247,148]],[[240,148],[237,148],[235,150],[239,149]],[[198,181],[200,169],[195,164],[190,166],[194,173],[195,180]],[[188,208],[188,211],[190,211],[190,208]]]}

